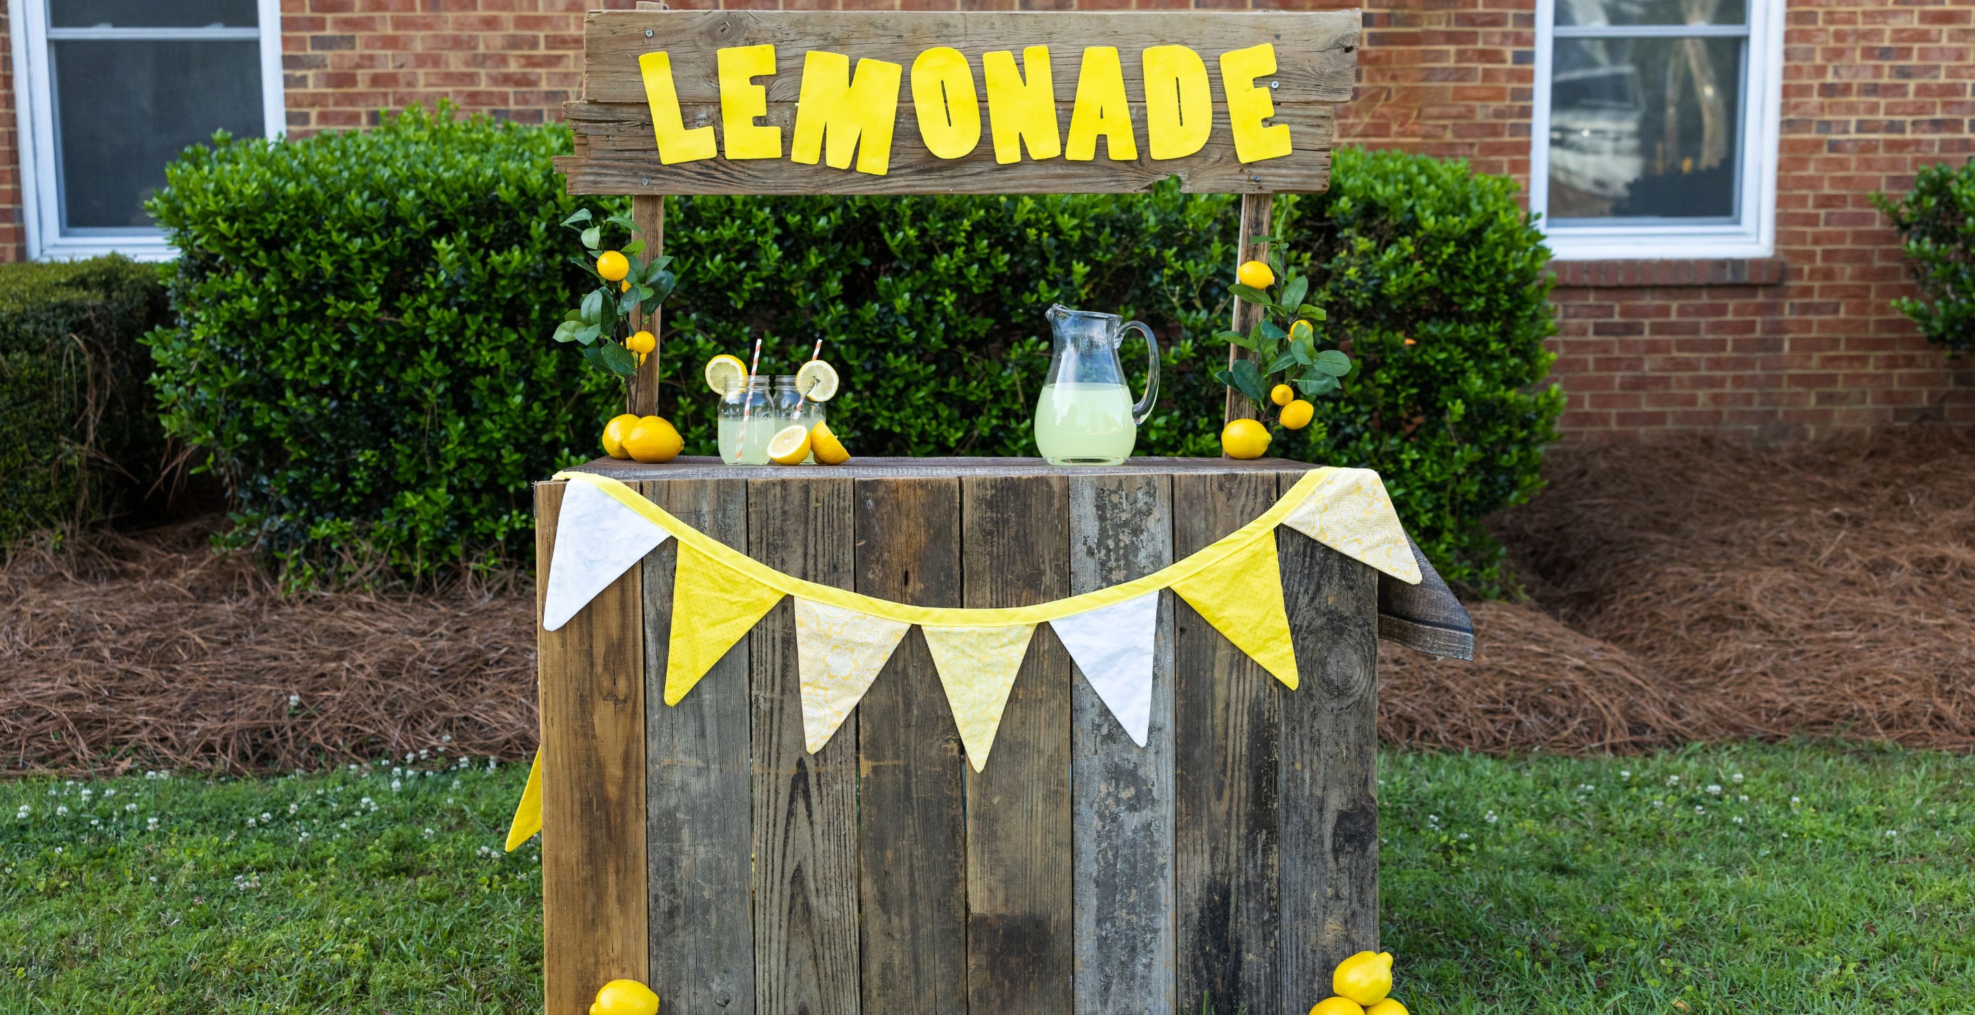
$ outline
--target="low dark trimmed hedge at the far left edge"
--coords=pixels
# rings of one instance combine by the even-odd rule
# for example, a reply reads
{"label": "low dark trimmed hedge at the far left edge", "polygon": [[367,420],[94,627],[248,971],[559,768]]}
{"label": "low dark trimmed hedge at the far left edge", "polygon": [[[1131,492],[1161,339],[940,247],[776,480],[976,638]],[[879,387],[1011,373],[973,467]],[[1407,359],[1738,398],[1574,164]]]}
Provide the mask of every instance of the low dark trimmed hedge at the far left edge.
{"label": "low dark trimmed hedge at the far left edge", "polygon": [[162,438],[138,340],[168,314],[150,265],[0,267],[0,543],[150,492]]}

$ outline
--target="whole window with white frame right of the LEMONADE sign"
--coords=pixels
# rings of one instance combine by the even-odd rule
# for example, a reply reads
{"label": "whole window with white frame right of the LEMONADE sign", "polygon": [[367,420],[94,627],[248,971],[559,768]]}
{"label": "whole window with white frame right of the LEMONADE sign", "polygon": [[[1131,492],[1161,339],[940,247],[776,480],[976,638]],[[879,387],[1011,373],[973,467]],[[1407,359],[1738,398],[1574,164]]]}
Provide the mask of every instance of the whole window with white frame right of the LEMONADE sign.
{"label": "whole window with white frame right of the LEMONADE sign", "polygon": [[1529,207],[1560,259],[1768,257],[1783,0],[1537,0]]}

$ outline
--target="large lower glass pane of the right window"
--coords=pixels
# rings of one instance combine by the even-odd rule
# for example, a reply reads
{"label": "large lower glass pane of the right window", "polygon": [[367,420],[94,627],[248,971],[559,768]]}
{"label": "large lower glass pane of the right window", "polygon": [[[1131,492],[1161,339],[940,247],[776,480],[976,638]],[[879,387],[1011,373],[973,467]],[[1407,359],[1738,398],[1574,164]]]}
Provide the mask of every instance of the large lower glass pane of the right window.
{"label": "large lower glass pane of the right window", "polygon": [[1736,215],[1742,39],[1556,39],[1552,219]]}

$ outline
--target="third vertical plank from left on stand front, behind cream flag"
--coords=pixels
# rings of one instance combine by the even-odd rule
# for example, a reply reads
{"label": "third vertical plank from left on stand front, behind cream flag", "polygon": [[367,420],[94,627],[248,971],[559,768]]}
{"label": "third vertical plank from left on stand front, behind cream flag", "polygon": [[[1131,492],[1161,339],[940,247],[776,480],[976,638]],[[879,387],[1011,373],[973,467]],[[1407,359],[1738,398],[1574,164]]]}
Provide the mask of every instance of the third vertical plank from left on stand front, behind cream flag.
{"label": "third vertical plank from left on stand front, behind cream flag", "polygon": [[[749,484],[747,508],[752,559],[837,588],[853,581],[851,480],[818,474]],[[857,715],[824,750],[806,750],[792,600],[768,610],[747,642],[754,697],[754,1011],[857,1015]]]}

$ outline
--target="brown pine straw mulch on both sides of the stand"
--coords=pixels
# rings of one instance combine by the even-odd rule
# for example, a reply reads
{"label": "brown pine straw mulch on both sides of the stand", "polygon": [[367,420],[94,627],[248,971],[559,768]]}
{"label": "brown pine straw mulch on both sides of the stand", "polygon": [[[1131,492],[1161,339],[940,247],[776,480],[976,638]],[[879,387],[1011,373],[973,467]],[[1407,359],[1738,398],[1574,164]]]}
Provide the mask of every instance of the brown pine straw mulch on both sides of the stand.
{"label": "brown pine straw mulch on both sides of the stand", "polygon": [[[1386,741],[1975,748],[1975,436],[1560,448],[1550,484],[1501,521],[1533,602],[1473,606],[1479,660],[1381,654]],[[0,673],[0,770],[515,758],[535,739],[525,581],[284,598],[196,523],[16,547]]]}

